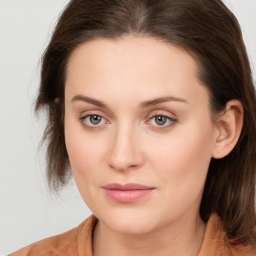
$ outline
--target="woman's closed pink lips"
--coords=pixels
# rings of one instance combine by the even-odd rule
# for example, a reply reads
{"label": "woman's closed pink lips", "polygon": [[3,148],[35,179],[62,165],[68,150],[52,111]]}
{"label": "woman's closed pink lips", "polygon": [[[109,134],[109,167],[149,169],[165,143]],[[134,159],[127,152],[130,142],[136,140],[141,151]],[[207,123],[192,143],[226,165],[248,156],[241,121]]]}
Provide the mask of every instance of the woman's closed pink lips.
{"label": "woman's closed pink lips", "polygon": [[117,202],[133,202],[149,195],[155,187],[145,186],[138,183],[127,183],[124,185],[110,183],[102,186],[105,194]]}

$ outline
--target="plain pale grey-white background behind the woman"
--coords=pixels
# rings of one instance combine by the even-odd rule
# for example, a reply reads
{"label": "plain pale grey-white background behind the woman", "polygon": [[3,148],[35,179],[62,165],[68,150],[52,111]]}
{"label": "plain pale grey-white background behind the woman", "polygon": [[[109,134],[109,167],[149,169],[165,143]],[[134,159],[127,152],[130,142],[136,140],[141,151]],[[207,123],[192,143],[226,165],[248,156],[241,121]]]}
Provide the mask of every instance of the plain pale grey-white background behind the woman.
{"label": "plain pale grey-white background behind the woman", "polygon": [[[33,117],[38,60],[68,0],[0,0],[0,255],[77,226],[91,214],[74,185],[45,186],[37,152],[43,120]],[[256,67],[256,0],[226,0]],[[255,72],[254,72],[255,79]]]}

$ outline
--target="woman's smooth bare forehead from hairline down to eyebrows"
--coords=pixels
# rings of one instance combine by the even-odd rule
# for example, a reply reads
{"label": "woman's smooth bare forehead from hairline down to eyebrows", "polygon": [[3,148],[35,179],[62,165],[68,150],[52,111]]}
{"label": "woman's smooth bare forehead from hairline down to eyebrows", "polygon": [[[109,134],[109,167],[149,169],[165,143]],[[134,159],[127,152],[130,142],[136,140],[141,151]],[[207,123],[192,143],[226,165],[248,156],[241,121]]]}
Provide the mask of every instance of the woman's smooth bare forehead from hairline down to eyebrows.
{"label": "woman's smooth bare forehead from hairline down to eyebrows", "polygon": [[[130,36],[118,40],[95,39],[79,45],[66,72],[65,94],[140,100],[155,94],[198,97],[206,93],[197,79],[191,55],[154,38]],[[91,95],[90,95],[91,94]],[[207,94],[207,93],[206,93]]]}

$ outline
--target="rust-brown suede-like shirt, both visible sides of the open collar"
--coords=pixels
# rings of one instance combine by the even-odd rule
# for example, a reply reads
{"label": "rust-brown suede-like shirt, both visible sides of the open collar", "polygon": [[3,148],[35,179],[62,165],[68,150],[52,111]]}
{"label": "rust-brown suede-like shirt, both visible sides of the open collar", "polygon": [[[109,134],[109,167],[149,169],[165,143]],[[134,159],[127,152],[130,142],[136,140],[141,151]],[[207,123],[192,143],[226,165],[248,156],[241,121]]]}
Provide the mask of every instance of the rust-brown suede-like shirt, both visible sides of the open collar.
{"label": "rust-brown suede-like shirt, both visible sides of the open collar", "polygon": [[[9,256],[92,256],[92,232],[97,222],[89,216],[77,227],[34,242]],[[197,256],[256,256],[256,246],[228,242],[220,218],[211,214]]]}

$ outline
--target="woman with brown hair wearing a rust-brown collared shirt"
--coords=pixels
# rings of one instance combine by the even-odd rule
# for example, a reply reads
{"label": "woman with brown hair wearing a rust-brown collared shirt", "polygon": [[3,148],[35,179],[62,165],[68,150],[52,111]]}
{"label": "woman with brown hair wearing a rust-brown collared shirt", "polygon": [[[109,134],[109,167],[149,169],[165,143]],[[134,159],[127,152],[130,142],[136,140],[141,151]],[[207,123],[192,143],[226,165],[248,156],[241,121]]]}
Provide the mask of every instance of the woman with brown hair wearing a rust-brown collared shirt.
{"label": "woman with brown hair wearing a rust-brown collared shirt", "polygon": [[94,215],[11,255],[255,255],[256,99],[220,0],[72,0],[36,111],[50,187]]}

